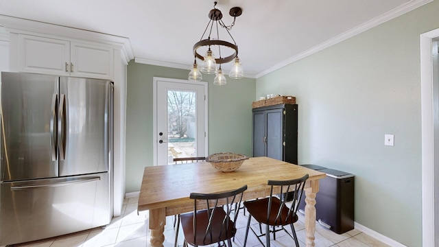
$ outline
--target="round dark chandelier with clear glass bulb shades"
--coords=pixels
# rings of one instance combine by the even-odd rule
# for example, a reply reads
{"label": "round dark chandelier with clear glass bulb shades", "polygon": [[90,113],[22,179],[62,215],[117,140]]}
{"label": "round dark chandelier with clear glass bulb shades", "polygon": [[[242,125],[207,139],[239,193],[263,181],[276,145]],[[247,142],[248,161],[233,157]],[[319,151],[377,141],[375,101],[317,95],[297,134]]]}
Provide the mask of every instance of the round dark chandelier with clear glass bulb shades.
{"label": "round dark chandelier with clear glass bulb shades", "polygon": [[[234,60],[232,69],[230,70],[228,76],[233,79],[240,79],[244,77],[244,71],[238,58],[238,46],[236,45],[235,39],[233,39],[229,32],[232,30],[233,25],[235,25],[236,17],[242,14],[242,10],[239,7],[231,8],[228,13],[233,17],[233,23],[230,25],[225,25],[222,21],[222,12],[215,7],[216,5],[217,2],[215,1],[213,9],[209,12],[210,21],[207,23],[204,33],[202,34],[200,41],[193,45],[193,55],[195,56],[195,61],[193,62],[191,72],[189,72],[189,80],[202,80],[202,75],[200,73],[201,71],[202,73],[206,74],[215,73],[217,76],[215,77],[213,84],[225,85],[227,82],[224,74],[222,73],[221,64]],[[227,31],[227,34],[230,36],[233,43],[219,39],[218,26]],[[208,29],[209,34],[205,37]],[[215,34],[215,30],[217,37],[213,38],[211,35],[212,33]],[[200,54],[200,50],[202,50],[202,48],[206,49],[204,55]],[[215,57],[213,50],[215,50],[215,53],[217,52],[219,56],[218,58]],[[225,55],[223,55],[222,52]],[[197,58],[202,60],[200,70],[198,70]],[[219,69],[217,69],[217,64],[219,64]]]}

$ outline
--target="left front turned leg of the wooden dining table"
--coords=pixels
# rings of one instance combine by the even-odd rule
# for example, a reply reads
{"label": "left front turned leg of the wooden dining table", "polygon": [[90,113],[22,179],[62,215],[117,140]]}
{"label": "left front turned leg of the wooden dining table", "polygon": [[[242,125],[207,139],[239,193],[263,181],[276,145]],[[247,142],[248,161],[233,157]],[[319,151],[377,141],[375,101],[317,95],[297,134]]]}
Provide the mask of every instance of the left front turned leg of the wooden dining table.
{"label": "left front turned leg of the wooden dining table", "polygon": [[163,247],[165,242],[166,215],[165,209],[151,209],[150,210],[150,246],[151,247]]}

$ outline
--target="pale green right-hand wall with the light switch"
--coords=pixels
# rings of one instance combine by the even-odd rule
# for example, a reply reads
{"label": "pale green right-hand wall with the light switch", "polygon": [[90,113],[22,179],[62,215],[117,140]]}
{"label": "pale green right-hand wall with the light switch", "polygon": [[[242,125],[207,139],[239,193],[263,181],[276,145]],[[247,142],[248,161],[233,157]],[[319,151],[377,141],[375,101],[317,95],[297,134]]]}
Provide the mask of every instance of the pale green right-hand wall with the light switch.
{"label": "pale green right-hand wall with the light switch", "polygon": [[355,222],[405,246],[422,246],[419,36],[438,12],[434,1],[257,79],[257,97],[296,96],[299,163],[355,174]]}

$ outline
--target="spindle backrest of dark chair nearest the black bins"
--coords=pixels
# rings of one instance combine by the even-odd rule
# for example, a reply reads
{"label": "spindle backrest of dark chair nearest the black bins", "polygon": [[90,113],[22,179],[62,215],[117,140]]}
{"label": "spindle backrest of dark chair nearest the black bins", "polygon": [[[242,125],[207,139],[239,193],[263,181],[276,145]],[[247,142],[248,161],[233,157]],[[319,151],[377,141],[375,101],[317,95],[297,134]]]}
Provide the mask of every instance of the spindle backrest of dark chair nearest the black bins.
{"label": "spindle backrest of dark chair nearest the black bins", "polygon": [[[309,175],[306,174],[302,178],[296,178],[293,180],[268,180],[268,185],[271,185],[270,199],[268,201],[268,215],[267,222],[271,220],[271,225],[285,225],[289,223],[292,217],[297,217],[296,213],[300,204],[300,198],[302,198],[303,188]],[[281,193],[273,195],[275,187],[281,188]],[[275,197],[276,196],[276,197]],[[288,207],[287,204],[291,202]],[[275,214],[274,214],[275,213]],[[276,217],[273,219],[273,215]]]}

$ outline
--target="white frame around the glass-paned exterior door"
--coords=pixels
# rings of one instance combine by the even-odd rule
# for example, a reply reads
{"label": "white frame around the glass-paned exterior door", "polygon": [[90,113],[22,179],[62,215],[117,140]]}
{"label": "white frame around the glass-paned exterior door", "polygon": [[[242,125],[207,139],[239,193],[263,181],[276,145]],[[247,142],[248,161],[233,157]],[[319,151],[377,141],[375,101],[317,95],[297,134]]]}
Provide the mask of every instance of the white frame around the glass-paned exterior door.
{"label": "white frame around the glass-paned exterior door", "polygon": [[185,84],[202,84],[204,86],[204,131],[206,132],[206,136],[204,137],[204,150],[205,150],[205,154],[207,156],[207,154],[209,153],[209,131],[208,131],[208,123],[207,120],[209,119],[209,115],[208,115],[208,102],[209,102],[209,98],[208,98],[208,86],[209,84],[207,82],[193,82],[193,81],[189,81],[189,80],[181,80],[181,79],[173,79],[173,78],[158,78],[158,77],[154,77],[153,78],[153,84],[152,84],[152,89],[153,89],[153,156],[154,156],[154,163],[153,165],[157,165],[157,143],[158,143],[158,134],[157,134],[157,82],[158,81],[165,81],[165,82],[177,82],[177,83],[185,83]]}

